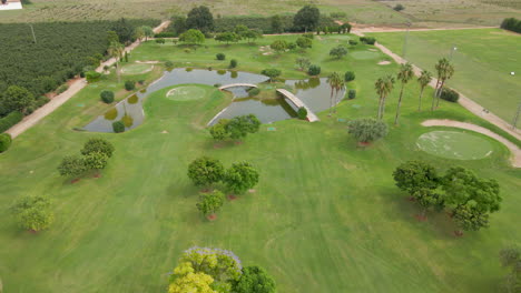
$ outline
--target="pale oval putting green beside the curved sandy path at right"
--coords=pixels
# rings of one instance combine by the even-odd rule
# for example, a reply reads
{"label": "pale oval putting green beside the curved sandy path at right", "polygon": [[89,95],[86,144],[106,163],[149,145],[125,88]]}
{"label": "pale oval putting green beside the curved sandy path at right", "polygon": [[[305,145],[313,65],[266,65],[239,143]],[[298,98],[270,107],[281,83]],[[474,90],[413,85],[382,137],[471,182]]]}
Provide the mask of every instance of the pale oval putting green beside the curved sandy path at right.
{"label": "pale oval putting green beside the curved sandy path at right", "polygon": [[479,160],[492,153],[489,141],[468,132],[432,131],[422,134],[416,144],[424,152],[455,160]]}

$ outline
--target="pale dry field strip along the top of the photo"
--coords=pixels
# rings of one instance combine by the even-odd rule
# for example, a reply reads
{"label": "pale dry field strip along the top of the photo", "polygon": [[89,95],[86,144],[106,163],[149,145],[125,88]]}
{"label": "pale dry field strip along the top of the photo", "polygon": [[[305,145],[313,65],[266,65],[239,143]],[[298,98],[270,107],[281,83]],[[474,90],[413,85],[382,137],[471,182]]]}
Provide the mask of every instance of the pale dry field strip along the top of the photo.
{"label": "pale dry field strip along the top of the photo", "polygon": [[[2,12],[0,22],[92,20],[126,18],[166,19],[184,14],[193,7],[206,4],[215,16],[272,16],[294,13],[308,3],[317,4],[324,13],[345,12],[342,20],[370,26],[415,27],[499,26],[507,17],[520,17],[517,0],[32,0],[22,11]],[[405,10],[392,8],[402,3]]]}

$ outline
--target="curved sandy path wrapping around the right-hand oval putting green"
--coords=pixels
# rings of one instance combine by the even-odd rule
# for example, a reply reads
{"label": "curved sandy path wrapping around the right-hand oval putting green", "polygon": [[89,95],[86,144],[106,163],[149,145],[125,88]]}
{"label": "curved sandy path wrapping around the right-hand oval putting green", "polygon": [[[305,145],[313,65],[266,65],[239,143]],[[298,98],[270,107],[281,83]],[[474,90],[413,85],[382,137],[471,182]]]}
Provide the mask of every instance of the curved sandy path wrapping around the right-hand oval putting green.
{"label": "curved sandy path wrapping around the right-hand oval putting green", "polygon": [[512,162],[512,165],[514,168],[521,168],[521,149],[519,149],[518,145],[513,144],[511,141],[507,140],[505,138],[497,134],[495,132],[492,132],[491,130],[488,130],[485,128],[478,127],[471,123],[465,123],[465,122],[460,122],[460,121],[454,121],[454,120],[442,120],[442,119],[425,120],[422,122],[422,125],[423,127],[449,127],[449,128],[466,129],[466,130],[475,131],[486,137],[490,137],[503,143],[504,146],[507,146],[511,152],[510,161]]}

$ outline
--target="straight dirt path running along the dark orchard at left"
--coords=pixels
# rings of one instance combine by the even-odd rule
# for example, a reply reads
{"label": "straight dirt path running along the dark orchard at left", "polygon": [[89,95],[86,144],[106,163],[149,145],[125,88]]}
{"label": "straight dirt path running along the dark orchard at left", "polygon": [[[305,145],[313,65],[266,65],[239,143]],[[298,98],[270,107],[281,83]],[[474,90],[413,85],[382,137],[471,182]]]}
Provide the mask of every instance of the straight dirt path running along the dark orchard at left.
{"label": "straight dirt path running along the dark orchard at left", "polygon": [[[158,27],[156,27],[154,29],[154,32],[155,33],[160,32],[161,30],[167,28],[169,24],[170,24],[170,21],[164,21],[164,22],[161,22],[161,24],[159,24]],[[140,41],[136,41],[136,42],[129,44],[127,48],[125,48],[125,51],[130,52],[134,49],[136,49],[136,47],[138,47],[140,43],[141,43]],[[106,67],[106,65],[110,67],[114,63],[116,63],[116,59],[111,58],[111,59],[105,61],[104,63],[101,63],[96,69],[96,71],[104,72],[104,67]],[[65,91],[61,94],[58,94],[57,97],[52,98],[47,104],[45,104],[43,107],[37,109],[32,114],[27,115],[26,118],[23,118],[23,120],[20,121],[20,123],[13,125],[12,128],[10,128],[6,132],[11,134],[12,138],[16,138],[16,137],[20,135],[26,130],[28,130],[29,128],[31,128],[32,125],[38,123],[40,120],[42,120],[45,117],[52,113],[56,109],[58,109],[58,107],[62,105],[70,98],[75,97],[85,87],[87,87],[87,80],[86,79],[77,79],[76,81],[70,83],[69,89],[67,91]]]}

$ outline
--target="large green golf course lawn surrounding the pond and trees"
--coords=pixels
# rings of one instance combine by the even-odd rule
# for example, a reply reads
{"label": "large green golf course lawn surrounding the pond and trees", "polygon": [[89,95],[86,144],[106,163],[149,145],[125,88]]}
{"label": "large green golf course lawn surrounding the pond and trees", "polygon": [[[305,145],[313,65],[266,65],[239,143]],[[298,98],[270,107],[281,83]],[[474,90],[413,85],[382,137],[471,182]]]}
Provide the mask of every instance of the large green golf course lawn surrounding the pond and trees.
{"label": "large green golf course lawn surrounding the pond and trees", "polygon": [[[443,101],[435,112],[416,112],[419,88],[411,83],[401,125],[391,127],[386,139],[358,149],[346,133],[346,123],[337,119],[375,117],[374,80],[395,72],[397,65],[376,65],[384,59],[380,52],[375,59],[331,60],[328,49],[347,40],[342,36],[315,40],[306,53],[263,55],[258,46],[274,39],[265,38],[257,46],[209,42],[191,53],[148,42],[130,58],[225,68],[228,61],[214,60],[223,51],[228,60],[238,60],[238,70],[276,67],[284,78],[304,78],[293,63],[297,55],[307,55],[322,65],[323,75],[355,71],[350,88],[357,90],[357,98],[343,101],[334,118],[322,112],[316,123],[286,120],[262,125],[243,144],[218,149],[205,124],[230,97],[208,87],[200,88],[207,94],[199,100],[175,101],[166,97],[168,90],[151,94],[145,102],[144,124],[122,134],[73,131],[110,108],[98,97],[106,88],[122,89],[112,72],[17,138],[0,155],[0,209],[4,211],[0,277],[6,292],[166,292],[168,272],[193,245],[228,249],[243,264],[266,267],[284,293],[494,292],[507,273],[499,251],[521,241],[521,199],[515,195],[521,171],[510,168],[508,150],[488,138],[493,153],[483,160],[445,160],[416,146],[421,134],[445,130],[421,127],[425,119],[490,124]],[[150,82],[157,75],[155,70],[142,79]],[[397,93],[389,98],[390,124]],[[118,99],[122,97],[119,92]],[[60,178],[56,166],[61,158],[77,153],[95,137],[116,146],[102,176],[75,184]],[[196,210],[198,190],[186,175],[189,162],[200,155],[226,165],[248,161],[260,172],[256,192],[227,202],[215,222]],[[397,164],[413,159],[441,170],[463,165],[497,179],[504,200],[502,210],[491,216],[491,228],[454,238],[454,226],[443,213],[429,213],[427,222],[417,222],[414,214],[420,210],[405,200],[391,176]],[[16,199],[30,194],[53,199],[56,223],[50,230],[19,231],[7,212]]]}

